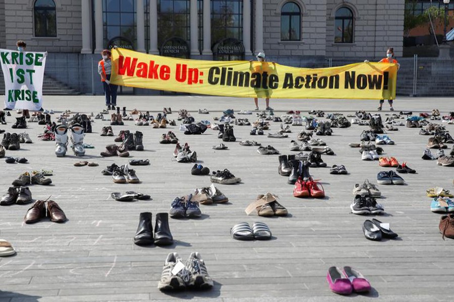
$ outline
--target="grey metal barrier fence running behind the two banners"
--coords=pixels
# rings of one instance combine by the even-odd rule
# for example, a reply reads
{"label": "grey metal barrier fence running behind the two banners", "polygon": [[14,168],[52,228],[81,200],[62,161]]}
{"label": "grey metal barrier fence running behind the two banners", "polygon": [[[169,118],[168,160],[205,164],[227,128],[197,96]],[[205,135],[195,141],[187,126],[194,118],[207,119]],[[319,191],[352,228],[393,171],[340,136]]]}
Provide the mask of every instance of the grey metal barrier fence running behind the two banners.
{"label": "grey metal barrier fence running behind the two banners", "polygon": [[[44,73],[43,94],[102,94],[97,64],[99,56],[78,53],[49,53]],[[268,61],[282,65],[324,68],[342,66],[368,59],[323,58],[303,56],[268,56]],[[400,58],[397,94],[403,96],[454,96],[454,58]],[[0,94],[5,93],[3,73],[0,73]]]}

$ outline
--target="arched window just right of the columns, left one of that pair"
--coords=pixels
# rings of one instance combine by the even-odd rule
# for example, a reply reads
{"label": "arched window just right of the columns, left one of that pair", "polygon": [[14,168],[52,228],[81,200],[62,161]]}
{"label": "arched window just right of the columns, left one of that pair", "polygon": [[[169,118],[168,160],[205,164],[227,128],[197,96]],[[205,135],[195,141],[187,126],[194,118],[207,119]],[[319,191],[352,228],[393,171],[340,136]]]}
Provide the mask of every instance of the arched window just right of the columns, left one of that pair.
{"label": "arched window just right of the columns, left one of that pair", "polygon": [[280,40],[301,40],[301,10],[294,2],[288,2],[280,11]]}

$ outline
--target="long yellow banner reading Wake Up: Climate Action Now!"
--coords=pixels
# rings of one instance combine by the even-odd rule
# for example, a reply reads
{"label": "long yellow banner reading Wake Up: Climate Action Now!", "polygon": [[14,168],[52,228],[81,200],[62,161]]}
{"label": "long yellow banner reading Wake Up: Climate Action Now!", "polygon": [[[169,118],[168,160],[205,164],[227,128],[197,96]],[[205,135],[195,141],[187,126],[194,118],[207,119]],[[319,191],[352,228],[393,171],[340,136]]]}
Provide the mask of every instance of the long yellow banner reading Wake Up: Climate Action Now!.
{"label": "long yellow banner reading Wake Up: Climate Action Now!", "polygon": [[228,97],[394,99],[397,66],[297,68],[274,62],[202,61],[112,49],[115,85]]}

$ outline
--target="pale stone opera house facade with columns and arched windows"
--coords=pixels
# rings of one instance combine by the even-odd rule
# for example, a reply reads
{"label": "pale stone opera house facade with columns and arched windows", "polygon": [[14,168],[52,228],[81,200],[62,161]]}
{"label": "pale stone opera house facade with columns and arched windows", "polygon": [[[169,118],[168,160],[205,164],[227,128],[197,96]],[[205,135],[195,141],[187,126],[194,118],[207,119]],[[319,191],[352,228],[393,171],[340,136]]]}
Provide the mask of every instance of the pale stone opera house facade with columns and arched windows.
{"label": "pale stone opera house facade with columns and arched windows", "polygon": [[[162,28],[164,23],[160,23],[164,19],[163,8],[172,2],[173,0],[0,0],[0,47],[15,48],[16,41],[22,39],[27,42],[30,50],[35,51],[98,54],[100,49],[108,46],[106,42],[112,38],[106,38],[106,35],[109,35],[110,31],[117,31],[116,33],[121,34],[128,33],[129,36],[126,38],[132,41],[134,49],[159,53],[162,41],[158,41],[158,38],[165,29]],[[49,7],[49,3],[54,4],[54,8],[50,8],[50,11],[54,10],[52,14],[55,16],[56,36],[41,34],[37,36],[36,6],[44,8],[44,12]],[[215,22],[213,20],[217,18],[213,16],[221,12],[224,7],[233,9],[216,15],[220,16],[219,20],[226,14],[227,19],[231,18],[239,25],[226,30],[223,38],[239,40],[244,47],[244,58],[249,58],[259,51],[264,51],[273,58],[279,56],[379,57],[385,53],[388,46],[394,47],[397,56],[402,55],[404,1],[187,0],[186,3],[183,9],[178,8],[180,17],[187,20],[185,25],[187,30],[180,38],[190,40],[188,42],[190,58],[213,58],[213,45],[218,41],[212,41],[207,37],[216,37],[216,39],[222,37],[222,35],[213,35],[212,31],[217,30],[219,33],[223,31],[222,28],[213,27]],[[289,6],[286,7],[288,3],[296,5],[292,5],[293,11],[292,8],[289,11],[291,17],[283,13],[284,8],[288,9]],[[115,11],[117,5],[120,13]],[[128,5],[132,8],[127,8]],[[114,7],[112,8],[114,13],[108,12],[106,6]],[[348,9],[344,9],[347,15],[349,12],[353,15],[351,19],[346,19],[352,23],[349,25],[343,23],[353,31],[353,34],[346,41],[336,42],[336,33],[343,30],[339,28],[341,26],[336,26],[342,24],[341,21],[336,20],[336,14],[341,8]],[[113,20],[115,18],[109,17],[109,14],[120,14],[123,18],[122,12],[132,12],[135,16],[134,24],[129,24],[130,31],[122,32],[123,24],[117,26],[115,24],[117,21]],[[107,24],[110,19],[115,25]],[[291,39],[282,39],[285,36],[282,32],[287,31],[282,24],[290,19],[293,22],[292,31],[296,32],[296,35]],[[225,26],[231,26],[228,24],[230,21],[227,21]],[[298,21],[299,24],[296,24]],[[229,37],[230,33],[235,34]],[[178,37],[178,32],[174,35]],[[229,59],[229,57],[221,56],[220,59]]]}

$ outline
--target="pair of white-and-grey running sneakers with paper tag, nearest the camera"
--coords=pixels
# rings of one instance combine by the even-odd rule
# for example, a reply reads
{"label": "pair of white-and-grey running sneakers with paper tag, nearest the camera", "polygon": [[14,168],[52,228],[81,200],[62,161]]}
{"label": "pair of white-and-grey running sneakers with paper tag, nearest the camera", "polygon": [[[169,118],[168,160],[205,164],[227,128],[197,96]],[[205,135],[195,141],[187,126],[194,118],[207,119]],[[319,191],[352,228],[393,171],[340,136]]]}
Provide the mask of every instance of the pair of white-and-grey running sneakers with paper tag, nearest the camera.
{"label": "pair of white-and-grey running sneakers with paper tag, nearest the camera", "polygon": [[178,253],[170,253],[164,262],[161,279],[158,289],[161,291],[191,289],[210,289],[213,287],[213,280],[208,275],[205,262],[199,252],[192,252],[189,258],[183,263]]}

